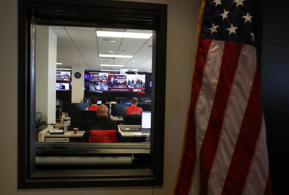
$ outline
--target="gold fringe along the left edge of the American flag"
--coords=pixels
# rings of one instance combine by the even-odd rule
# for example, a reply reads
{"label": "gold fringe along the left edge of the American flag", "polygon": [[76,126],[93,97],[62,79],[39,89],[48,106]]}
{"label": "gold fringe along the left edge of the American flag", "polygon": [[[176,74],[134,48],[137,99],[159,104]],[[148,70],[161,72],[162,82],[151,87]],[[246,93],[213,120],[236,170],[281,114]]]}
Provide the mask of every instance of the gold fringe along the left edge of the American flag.
{"label": "gold fringe along the left edge of the American flag", "polygon": [[[198,50],[198,46],[199,46],[199,37],[200,37],[200,32],[201,32],[201,27],[202,27],[202,20],[203,20],[203,14],[204,14],[204,10],[205,10],[205,4],[206,4],[206,0],[203,0],[202,5],[201,5],[201,10],[199,13],[199,24],[198,24],[198,34],[197,34],[197,38],[196,38],[196,52],[195,52],[195,64],[196,64],[196,54],[197,54],[197,50]],[[193,88],[193,75],[195,72],[195,66],[193,68],[193,72],[191,75],[191,82],[192,82],[192,87],[191,87],[191,91]],[[190,103],[191,104],[191,103]],[[180,179],[180,174],[181,174],[181,169],[182,169],[182,164],[183,164],[183,159],[184,159],[184,153],[185,153],[185,149],[186,149],[186,143],[187,143],[187,131],[188,131],[188,122],[189,122],[189,112],[190,112],[190,106],[187,109],[187,120],[186,120],[186,125],[185,125],[185,132],[184,132],[184,139],[183,139],[183,146],[182,146],[182,152],[181,152],[181,158],[179,161],[179,169],[177,171],[177,176],[175,178],[175,182],[174,182],[174,190],[172,192],[172,195],[176,194],[176,190],[177,190],[177,185]]]}

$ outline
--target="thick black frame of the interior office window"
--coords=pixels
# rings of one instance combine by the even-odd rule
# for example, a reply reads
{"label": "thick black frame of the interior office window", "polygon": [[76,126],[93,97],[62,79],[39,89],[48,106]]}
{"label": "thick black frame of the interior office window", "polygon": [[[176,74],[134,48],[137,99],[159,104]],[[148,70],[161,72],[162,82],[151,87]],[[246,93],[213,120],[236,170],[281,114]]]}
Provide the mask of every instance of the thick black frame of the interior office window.
{"label": "thick black frame of the interior office window", "polygon": [[[73,20],[76,17],[77,21],[81,20],[80,23],[72,22],[76,21]],[[154,30],[151,175],[48,177],[45,171],[35,170],[35,43],[31,43],[34,40],[31,36],[35,35],[36,24]],[[166,34],[165,4],[109,0],[18,0],[18,189],[163,184]]]}

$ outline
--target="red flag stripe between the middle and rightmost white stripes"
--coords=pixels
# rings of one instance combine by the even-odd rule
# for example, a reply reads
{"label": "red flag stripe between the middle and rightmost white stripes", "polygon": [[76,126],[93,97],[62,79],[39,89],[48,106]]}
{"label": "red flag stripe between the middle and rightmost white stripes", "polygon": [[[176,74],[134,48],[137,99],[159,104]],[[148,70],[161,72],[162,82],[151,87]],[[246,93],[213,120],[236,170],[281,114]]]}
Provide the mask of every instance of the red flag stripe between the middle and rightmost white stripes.
{"label": "red flag stripe between the middle and rightmost white stripes", "polygon": [[[256,65],[254,65],[256,66]],[[241,195],[250,169],[262,125],[262,102],[259,71],[256,68],[250,98],[224,183],[222,195]]]}

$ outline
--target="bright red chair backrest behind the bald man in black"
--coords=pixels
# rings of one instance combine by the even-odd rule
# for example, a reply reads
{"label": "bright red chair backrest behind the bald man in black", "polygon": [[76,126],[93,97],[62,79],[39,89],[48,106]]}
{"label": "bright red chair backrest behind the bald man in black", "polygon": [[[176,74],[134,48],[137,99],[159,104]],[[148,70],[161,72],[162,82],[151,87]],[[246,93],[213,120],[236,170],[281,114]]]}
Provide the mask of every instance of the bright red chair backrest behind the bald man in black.
{"label": "bright red chair backrest behind the bald man in black", "polygon": [[88,142],[118,142],[115,130],[91,130]]}

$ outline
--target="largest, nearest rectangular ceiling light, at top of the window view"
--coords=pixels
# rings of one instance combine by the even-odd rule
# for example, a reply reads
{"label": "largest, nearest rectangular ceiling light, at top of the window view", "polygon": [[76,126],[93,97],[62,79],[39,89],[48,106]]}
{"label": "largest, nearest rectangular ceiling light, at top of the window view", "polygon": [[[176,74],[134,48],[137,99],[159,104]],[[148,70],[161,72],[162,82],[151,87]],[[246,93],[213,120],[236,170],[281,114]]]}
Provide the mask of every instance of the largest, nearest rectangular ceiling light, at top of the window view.
{"label": "largest, nearest rectangular ceiling light, at top of the window view", "polygon": [[151,33],[127,33],[127,32],[112,32],[112,31],[96,31],[98,37],[120,37],[134,39],[149,39]]}

